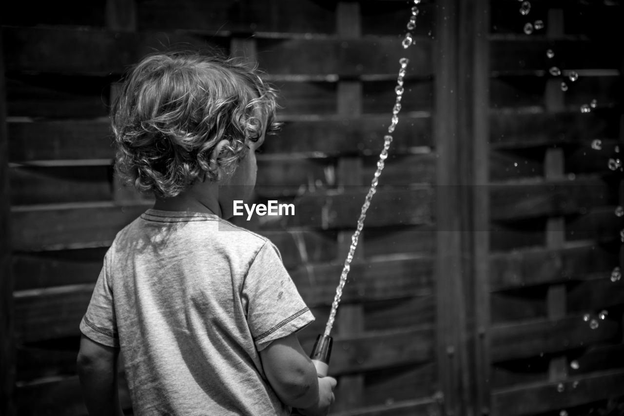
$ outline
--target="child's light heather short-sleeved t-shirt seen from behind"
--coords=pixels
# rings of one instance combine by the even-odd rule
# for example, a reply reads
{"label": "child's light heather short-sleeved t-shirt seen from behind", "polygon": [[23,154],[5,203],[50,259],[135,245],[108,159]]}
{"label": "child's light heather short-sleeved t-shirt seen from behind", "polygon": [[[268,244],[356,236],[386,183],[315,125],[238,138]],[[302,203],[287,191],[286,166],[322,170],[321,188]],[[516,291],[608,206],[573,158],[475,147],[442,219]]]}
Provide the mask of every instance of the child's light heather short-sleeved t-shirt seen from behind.
{"label": "child's light heather short-sleeved t-shirt seen from behind", "polygon": [[139,415],[288,415],[258,352],[314,320],[265,237],[149,209],[117,234],[80,330],[120,347]]}

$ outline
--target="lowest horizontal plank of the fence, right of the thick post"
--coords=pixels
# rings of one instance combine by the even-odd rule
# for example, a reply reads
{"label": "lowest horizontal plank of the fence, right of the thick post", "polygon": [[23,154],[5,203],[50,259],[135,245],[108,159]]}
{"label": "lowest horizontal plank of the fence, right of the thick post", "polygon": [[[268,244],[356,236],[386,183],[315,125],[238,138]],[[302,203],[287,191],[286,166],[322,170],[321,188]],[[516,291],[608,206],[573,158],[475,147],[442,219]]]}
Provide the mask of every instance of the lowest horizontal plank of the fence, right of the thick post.
{"label": "lowest horizontal plank of the fence, right of the thick post", "polygon": [[[563,391],[559,392],[563,385]],[[602,372],[562,382],[540,382],[492,393],[492,415],[534,415],[569,409],[622,394],[624,371]]]}

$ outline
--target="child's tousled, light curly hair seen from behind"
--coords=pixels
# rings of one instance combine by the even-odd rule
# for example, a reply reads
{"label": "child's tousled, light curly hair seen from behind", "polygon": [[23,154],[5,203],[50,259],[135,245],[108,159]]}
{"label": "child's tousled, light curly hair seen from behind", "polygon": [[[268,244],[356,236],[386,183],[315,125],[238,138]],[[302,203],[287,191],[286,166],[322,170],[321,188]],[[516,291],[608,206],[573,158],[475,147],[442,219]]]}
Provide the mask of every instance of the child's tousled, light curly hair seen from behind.
{"label": "child's tousled, light curly hair seen from behind", "polygon": [[[241,61],[197,52],[147,56],[113,106],[117,174],[161,198],[220,179],[246,156],[246,141],[273,132],[275,100],[275,89]],[[227,146],[211,160],[222,139]]]}

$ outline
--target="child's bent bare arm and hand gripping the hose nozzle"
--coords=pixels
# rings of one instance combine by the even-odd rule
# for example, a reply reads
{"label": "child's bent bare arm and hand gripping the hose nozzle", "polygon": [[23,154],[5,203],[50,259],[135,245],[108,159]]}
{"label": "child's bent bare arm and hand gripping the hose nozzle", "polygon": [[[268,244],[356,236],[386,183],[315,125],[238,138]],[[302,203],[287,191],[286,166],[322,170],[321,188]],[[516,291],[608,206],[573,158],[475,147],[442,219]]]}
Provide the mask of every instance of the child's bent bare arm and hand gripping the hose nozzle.
{"label": "child's bent bare arm and hand gripping the hose nozzle", "polygon": [[326,415],[334,401],[332,377],[319,378],[295,333],[276,339],[260,351],[271,387],[286,405],[306,415]]}

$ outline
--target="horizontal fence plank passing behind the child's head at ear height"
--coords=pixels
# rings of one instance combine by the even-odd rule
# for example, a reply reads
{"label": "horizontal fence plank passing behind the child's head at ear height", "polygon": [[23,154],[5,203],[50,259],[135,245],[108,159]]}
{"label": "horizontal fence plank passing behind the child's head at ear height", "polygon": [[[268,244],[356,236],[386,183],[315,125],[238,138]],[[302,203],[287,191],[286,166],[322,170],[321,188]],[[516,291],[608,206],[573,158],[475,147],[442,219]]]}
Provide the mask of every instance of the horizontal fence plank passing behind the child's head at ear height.
{"label": "horizontal fence plank passing behind the child's head at ear height", "polygon": [[[263,146],[266,153],[307,153],[312,156],[379,154],[390,116],[284,119],[278,136]],[[114,157],[107,119],[89,121],[9,122],[9,161],[107,159]],[[431,145],[431,119],[404,115],[392,135],[393,154],[411,153]]]}

